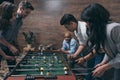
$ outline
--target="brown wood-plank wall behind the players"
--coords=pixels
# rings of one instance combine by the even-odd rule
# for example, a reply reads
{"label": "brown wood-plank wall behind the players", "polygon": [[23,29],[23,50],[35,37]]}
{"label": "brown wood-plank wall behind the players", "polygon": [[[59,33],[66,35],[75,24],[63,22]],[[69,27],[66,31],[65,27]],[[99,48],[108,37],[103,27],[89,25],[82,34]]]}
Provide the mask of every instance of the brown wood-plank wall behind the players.
{"label": "brown wood-plank wall behind the players", "polygon": [[[19,2],[20,0],[18,0]],[[111,14],[114,21],[120,22],[120,0],[29,0],[35,10],[24,19],[23,27],[18,35],[20,46],[25,46],[23,31],[33,31],[34,45],[54,43],[61,46],[63,34],[66,31],[59,24],[65,13],[73,14],[78,20],[81,11],[90,3],[102,4]]]}

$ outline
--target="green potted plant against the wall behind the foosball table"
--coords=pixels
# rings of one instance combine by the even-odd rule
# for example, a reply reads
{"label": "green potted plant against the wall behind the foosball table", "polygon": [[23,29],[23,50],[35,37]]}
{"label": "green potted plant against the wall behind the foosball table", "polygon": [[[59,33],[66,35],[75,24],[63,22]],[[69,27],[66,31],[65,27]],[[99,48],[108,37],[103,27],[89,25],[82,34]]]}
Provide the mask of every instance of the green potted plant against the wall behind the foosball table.
{"label": "green potted plant against the wall behind the foosball table", "polygon": [[27,43],[27,47],[31,48],[31,44],[33,42],[33,32],[31,32],[31,31],[29,31],[29,33],[23,32],[22,34],[23,34],[25,41]]}

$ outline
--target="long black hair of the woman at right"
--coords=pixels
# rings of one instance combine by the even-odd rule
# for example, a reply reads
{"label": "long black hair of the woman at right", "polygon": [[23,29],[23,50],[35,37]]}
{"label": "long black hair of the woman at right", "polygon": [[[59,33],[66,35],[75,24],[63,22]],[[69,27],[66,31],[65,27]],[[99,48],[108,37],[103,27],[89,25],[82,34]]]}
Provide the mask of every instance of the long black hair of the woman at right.
{"label": "long black hair of the woman at right", "polygon": [[100,45],[104,47],[109,17],[109,12],[98,3],[90,4],[81,13],[81,19],[89,22],[90,36],[88,42],[92,43],[91,46],[96,45],[96,50],[100,48]]}

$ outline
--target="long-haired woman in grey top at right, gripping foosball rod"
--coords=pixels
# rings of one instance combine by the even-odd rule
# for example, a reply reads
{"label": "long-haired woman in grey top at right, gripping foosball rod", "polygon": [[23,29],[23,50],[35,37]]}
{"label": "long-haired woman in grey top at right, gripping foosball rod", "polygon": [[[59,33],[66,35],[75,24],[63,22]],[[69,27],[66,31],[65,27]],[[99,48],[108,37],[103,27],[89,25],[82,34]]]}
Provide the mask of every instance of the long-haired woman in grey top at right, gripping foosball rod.
{"label": "long-haired woman in grey top at right, gripping foosball rod", "polygon": [[89,46],[96,46],[96,51],[102,44],[106,51],[104,59],[93,70],[94,77],[100,77],[105,71],[114,68],[114,80],[120,80],[120,23],[110,20],[109,11],[101,4],[92,3],[81,13],[81,20],[88,24]]}

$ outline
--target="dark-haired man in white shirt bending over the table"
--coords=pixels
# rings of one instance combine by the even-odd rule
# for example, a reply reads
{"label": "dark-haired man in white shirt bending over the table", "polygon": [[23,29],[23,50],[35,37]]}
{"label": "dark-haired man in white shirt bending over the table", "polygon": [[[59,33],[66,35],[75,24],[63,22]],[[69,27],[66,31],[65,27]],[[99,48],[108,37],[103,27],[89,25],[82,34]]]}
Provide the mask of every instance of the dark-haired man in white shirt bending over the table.
{"label": "dark-haired man in white shirt bending over the table", "polygon": [[[86,23],[82,21],[77,21],[76,18],[72,14],[65,14],[61,18],[60,24],[64,25],[64,27],[67,30],[74,32],[75,36],[77,37],[79,41],[78,49],[76,50],[74,54],[71,55],[71,57],[75,59],[76,57],[78,57],[80,53],[82,53],[83,49],[86,46],[86,42],[88,39],[88,36],[86,33],[86,29],[87,29]],[[83,55],[86,55],[86,53],[84,53]],[[94,59],[89,60],[87,63],[88,63],[87,64],[88,68],[94,67]],[[86,80],[90,80],[90,78],[92,78],[91,75],[86,76]]]}

